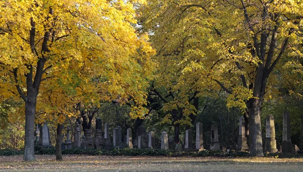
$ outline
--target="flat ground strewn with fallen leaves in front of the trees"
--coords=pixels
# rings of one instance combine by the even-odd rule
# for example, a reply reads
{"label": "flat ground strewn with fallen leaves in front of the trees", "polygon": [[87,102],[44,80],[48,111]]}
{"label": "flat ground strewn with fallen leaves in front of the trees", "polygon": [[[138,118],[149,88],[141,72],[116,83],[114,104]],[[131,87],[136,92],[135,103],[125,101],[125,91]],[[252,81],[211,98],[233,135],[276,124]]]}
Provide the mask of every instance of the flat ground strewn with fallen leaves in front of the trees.
{"label": "flat ground strewn with fallen leaves in front of the trees", "polygon": [[36,155],[0,156],[0,171],[302,171],[303,158]]}

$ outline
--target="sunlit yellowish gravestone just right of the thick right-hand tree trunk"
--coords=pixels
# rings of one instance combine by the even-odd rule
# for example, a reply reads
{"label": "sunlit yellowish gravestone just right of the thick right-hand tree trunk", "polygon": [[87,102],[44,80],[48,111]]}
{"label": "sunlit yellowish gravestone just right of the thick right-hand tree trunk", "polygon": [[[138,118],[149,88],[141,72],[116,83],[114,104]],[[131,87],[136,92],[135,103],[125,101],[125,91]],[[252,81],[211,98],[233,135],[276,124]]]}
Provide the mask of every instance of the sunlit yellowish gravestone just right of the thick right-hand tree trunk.
{"label": "sunlit yellowish gravestone just right of the thick right-hand tree trunk", "polygon": [[277,149],[274,116],[266,117],[266,137],[264,152],[275,153]]}

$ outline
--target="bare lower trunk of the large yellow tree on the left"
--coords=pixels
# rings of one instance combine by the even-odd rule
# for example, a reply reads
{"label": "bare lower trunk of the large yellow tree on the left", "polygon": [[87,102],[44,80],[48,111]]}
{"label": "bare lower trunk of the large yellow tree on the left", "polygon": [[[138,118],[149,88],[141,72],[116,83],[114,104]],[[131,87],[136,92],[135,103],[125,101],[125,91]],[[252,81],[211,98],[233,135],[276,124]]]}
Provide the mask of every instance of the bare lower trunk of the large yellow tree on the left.
{"label": "bare lower trunk of the large yellow tree on the left", "polygon": [[36,98],[28,96],[25,102],[25,139],[24,139],[24,156],[23,160],[35,160],[35,113]]}

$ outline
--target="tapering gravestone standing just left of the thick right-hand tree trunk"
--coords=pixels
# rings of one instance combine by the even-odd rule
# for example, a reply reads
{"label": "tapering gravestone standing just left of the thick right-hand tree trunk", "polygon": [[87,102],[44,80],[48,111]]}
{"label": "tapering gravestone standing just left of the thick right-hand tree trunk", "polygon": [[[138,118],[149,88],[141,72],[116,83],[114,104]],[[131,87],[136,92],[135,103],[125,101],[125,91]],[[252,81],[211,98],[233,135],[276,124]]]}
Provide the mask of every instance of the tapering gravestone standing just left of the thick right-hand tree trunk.
{"label": "tapering gravestone standing just left of the thick right-hand tree trunk", "polygon": [[238,145],[236,147],[238,151],[249,151],[247,145],[247,138],[245,137],[245,121],[244,117],[240,117],[239,119],[239,137],[238,137]]}

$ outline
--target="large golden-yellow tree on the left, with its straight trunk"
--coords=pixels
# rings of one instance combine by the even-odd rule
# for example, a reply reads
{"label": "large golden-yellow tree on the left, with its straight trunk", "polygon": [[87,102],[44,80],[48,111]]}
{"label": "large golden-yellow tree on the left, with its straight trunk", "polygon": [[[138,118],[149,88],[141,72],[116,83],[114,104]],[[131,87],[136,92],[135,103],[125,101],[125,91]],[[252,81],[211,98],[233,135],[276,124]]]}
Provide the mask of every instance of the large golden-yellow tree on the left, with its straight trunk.
{"label": "large golden-yellow tree on the left, with its straight trunk", "polygon": [[0,9],[0,85],[5,97],[25,102],[24,160],[34,160],[35,113],[45,87],[133,100],[132,115],[145,113],[153,49],[133,28],[131,2],[7,0]]}

